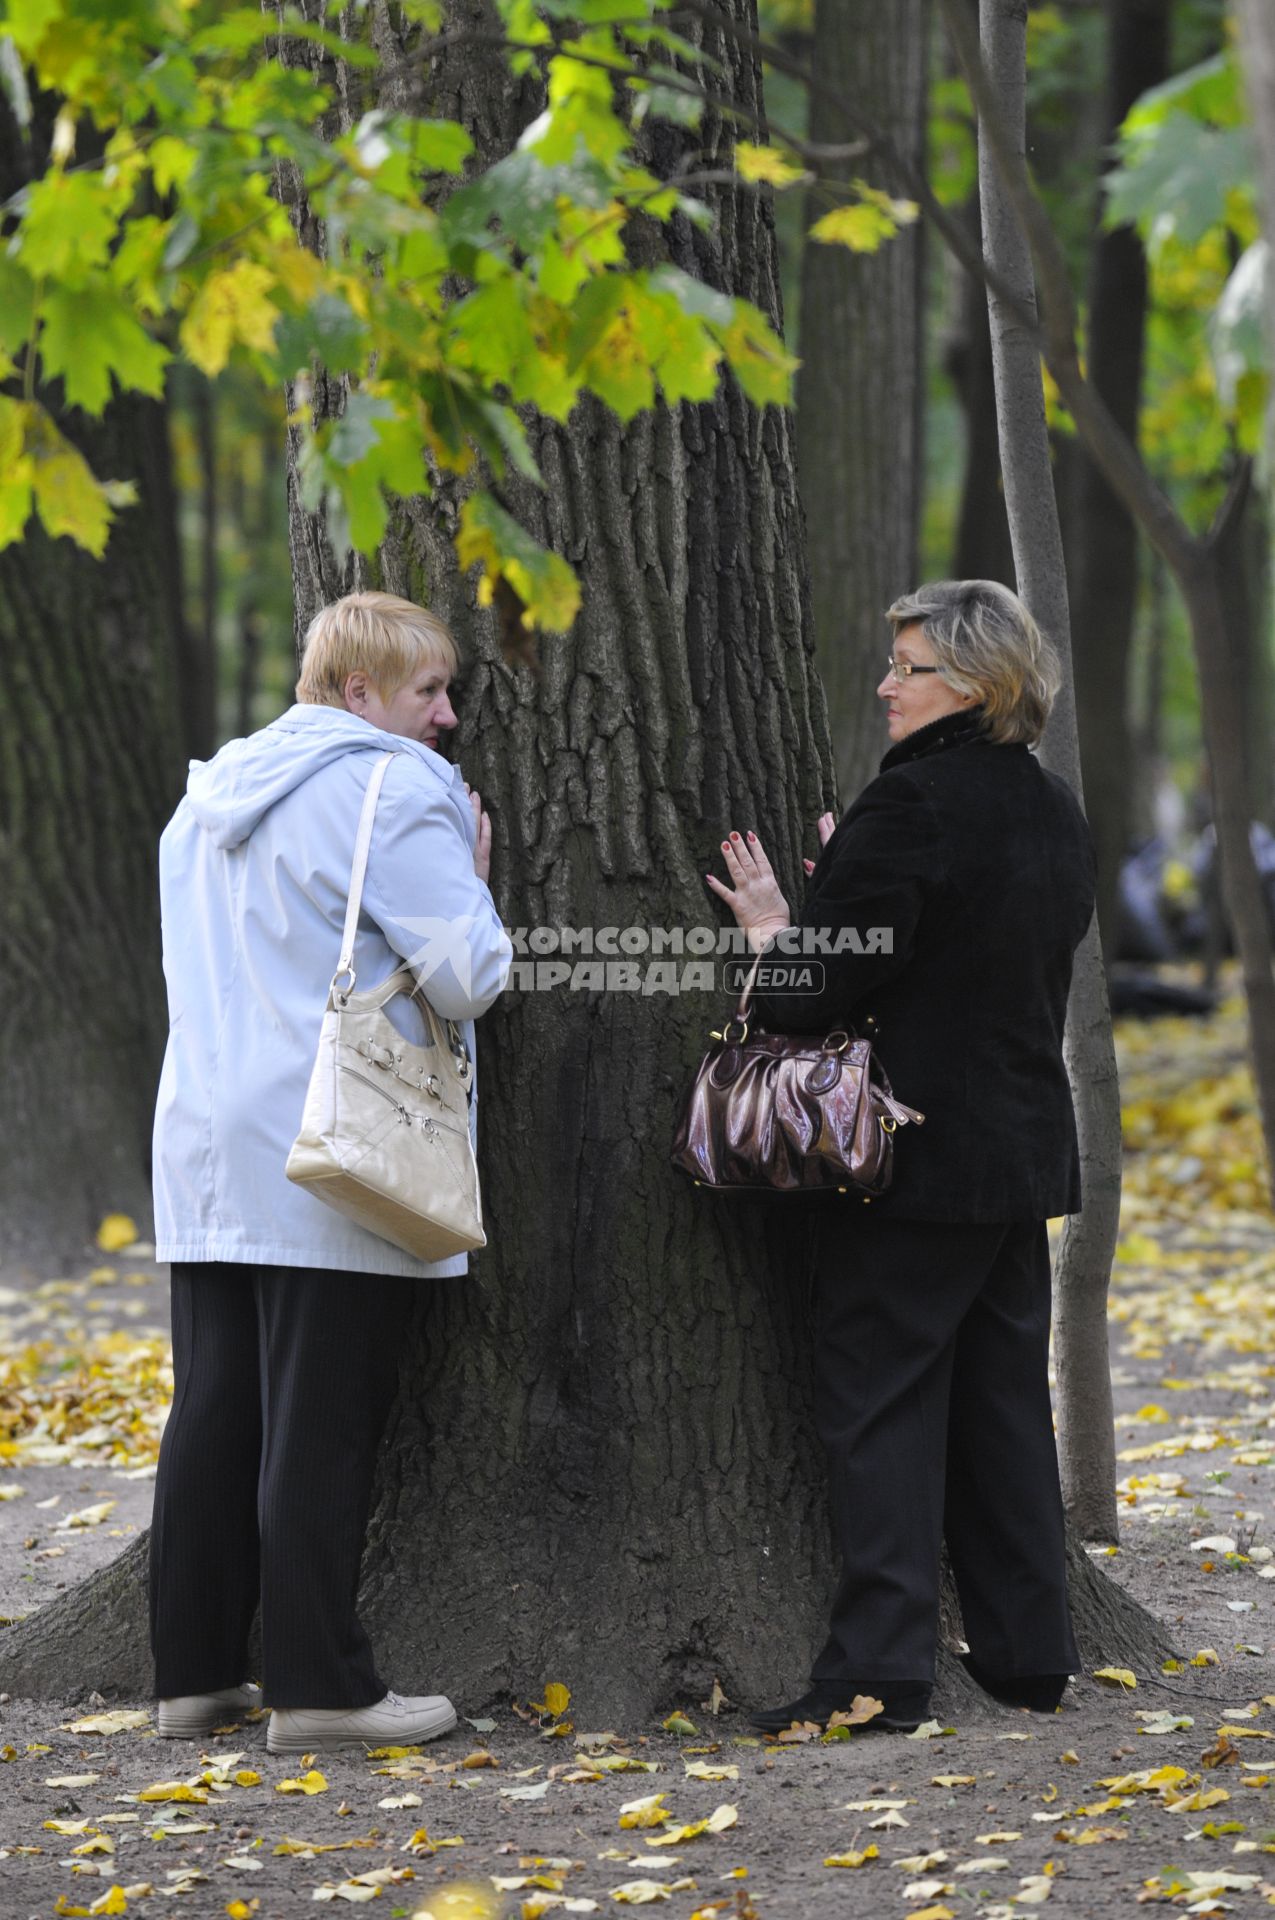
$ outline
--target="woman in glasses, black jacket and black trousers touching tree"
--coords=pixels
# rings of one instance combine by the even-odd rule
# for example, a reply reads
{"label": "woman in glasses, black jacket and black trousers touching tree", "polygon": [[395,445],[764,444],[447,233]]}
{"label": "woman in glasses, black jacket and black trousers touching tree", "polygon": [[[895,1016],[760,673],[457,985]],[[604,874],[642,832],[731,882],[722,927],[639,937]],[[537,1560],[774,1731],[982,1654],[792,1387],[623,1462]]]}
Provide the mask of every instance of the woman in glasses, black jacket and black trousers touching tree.
{"label": "woman in glasses, black jacket and black trousers touching tree", "polygon": [[966,1665],[989,1693],[1050,1711],[1077,1667],[1045,1223],[1081,1204],[1062,1031],[1093,841],[1031,753],[1058,662],[1022,601],[947,580],[889,620],[878,695],[893,745],[841,824],[820,822],[797,922],[753,833],[722,843],[730,885],[709,877],[753,950],[793,924],[858,929],[812,954],[818,991],[760,995],[757,1014],[868,1033],[926,1116],[895,1140],[887,1194],[818,1202],[816,1419],[843,1572],[810,1690],[757,1713],[768,1730],[828,1720],[856,1693],[883,1703],[872,1726],[924,1718],[945,1536]]}

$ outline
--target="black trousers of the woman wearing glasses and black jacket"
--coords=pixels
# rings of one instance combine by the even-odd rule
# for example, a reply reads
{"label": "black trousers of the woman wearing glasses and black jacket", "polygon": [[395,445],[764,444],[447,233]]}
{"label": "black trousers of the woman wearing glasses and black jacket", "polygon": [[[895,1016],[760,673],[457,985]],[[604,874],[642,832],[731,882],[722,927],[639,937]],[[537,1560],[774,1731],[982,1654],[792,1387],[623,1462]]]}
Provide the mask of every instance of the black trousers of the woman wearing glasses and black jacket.
{"label": "black trousers of the woman wearing glasses and black jacket", "polygon": [[1045,1223],[816,1223],[816,1419],[843,1572],[816,1680],[929,1682],[939,1548],[974,1657],[1073,1672]]}

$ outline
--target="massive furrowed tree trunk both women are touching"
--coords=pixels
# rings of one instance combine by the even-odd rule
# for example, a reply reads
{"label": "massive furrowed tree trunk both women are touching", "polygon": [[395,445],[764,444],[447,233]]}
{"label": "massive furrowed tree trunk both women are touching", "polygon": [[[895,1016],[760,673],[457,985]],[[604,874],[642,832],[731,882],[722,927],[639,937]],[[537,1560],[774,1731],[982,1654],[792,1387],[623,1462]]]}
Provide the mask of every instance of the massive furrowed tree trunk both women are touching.
{"label": "massive furrowed tree trunk both women are touching", "polygon": [[[732,4],[751,27],[751,0]],[[453,0],[453,21],[476,17]],[[712,44],[758,106],[753,56]],[[536,106],[476,48],[453,46],[436,83],[436,111],[474,129],[482,161]],[[712,234],[674,230],[672,255],[778,317],[764,198],[728,194],[716,213]],[[336,386],[323,403],[340,405]],[[630,428],[584,405],[532,432],[549,484],[507,497],[584,578],[540,676],[503,662],[457,578],[453,495],[409,505],[367,570],[428,599],[469,655],[461,758],[493,812],[507,920],[712,924],[701,876],[730,822],[760,824],[795,887],[831,753],[787,419],[726,384]],[[351,574],[296,493],[292,526],[301,624]],[[714,1676],[749,1701],[806,1672],[833,1567],[799,1215],[697,1194],[666,1164],[720,1006],[557,987],[511,993],[484,1021],[490,1246],[467,1281],[421,1292],[365,1559],[365,1617],[399,1686],[445,1680],[472,1711],[555,1676],[586,1718],[639,1724]],[[138,1542],[6,1636],[0,1686],[144,1693],[144,1567]],[[1087,1661],[1162,1653],[1081,1553],[1073,1592]],[[947,1661],[941,1697],[962,1692]]]}

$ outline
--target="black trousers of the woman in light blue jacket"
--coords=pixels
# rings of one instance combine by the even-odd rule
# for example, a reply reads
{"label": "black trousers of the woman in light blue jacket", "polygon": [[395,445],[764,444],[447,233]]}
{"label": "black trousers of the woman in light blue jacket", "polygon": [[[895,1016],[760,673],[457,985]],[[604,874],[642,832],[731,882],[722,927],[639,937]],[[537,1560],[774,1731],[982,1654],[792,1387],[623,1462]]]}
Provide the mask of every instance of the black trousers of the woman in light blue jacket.
{"label": "black trousers of the woman in light blue jacket", "polygon": [[384,1699],[355,1613],[376,1446],[415,1281],[173,1265],[173,1409],[150,1528],[156,1693],[248,1676],[271,1707]]}

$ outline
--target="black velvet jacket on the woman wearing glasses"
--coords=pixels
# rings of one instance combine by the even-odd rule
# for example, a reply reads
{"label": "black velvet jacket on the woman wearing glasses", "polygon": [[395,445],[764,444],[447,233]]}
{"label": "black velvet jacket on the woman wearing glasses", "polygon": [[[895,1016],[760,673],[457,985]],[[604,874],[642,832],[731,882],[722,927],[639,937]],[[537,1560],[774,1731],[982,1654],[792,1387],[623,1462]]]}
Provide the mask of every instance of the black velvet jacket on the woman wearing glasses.
{"label": "black velvet jacket on the woman wearing glasses", "polygon": [[[977,714],[908,733],[810,874],[799,927],[891,929],[824,954],[822,993],[757,996],[766,1025],[868,1033],[924,1127],[895,1135],[897,1219],[1023,1221],[1081,1204],[1062,1029],[1095,904],[1071,789]],[[776,954],[778,958],[778,954]]]}

